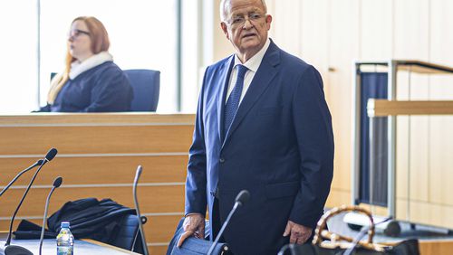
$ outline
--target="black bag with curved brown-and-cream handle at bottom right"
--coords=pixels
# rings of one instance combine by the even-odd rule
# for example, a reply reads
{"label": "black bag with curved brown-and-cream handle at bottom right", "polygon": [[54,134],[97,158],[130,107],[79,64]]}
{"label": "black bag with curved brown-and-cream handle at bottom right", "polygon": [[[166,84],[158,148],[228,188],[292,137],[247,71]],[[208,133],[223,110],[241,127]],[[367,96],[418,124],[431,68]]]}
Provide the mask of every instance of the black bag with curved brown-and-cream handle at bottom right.
{"label": "black bag with curved brown-and-cream handle at bottom right", "polygon": [[[370,227],[367,230],[367,241],[355,241],[351,237],[342,236],[326,230],[327,220],[343,212],[360,212],[369,217]],[[341,255],[347,250],[352,255],[419,255],[419,241],[417,240],[401,241],[396,245],[380,245],[372,242],[373,237],[374,222],[371,213],[359,206],[343,205],[342,207],[336,207],[324,213],[314,231],[313,243],[305,243],[303,245],[287,244],[278,252],[278,255]],[[323,242],[324,240],[330,240],[330,242]],[[341,241],[348,241],[349,243]]]}

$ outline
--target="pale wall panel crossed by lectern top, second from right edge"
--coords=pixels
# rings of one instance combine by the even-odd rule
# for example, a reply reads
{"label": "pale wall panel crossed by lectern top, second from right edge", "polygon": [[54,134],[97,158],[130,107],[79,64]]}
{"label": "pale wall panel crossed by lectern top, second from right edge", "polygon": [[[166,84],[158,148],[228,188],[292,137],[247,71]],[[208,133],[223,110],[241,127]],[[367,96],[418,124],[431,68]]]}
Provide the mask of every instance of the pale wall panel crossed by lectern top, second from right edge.
{"label": "pale wall panel crossed by lectern top, second from right edge", "polygon": [[[393,18],[392,57],[429,61],[429,1],[394,1]],[[401,70],[397,77],[397,99],[429,99],[429,75]],[[397,197],[408,198],[409,187],[410,199],[428,201],[429,146],[426,145],[429,142],[429,117],[402,120],[397,125],[397,142],[404,144],[397,145],[397,164],[404,168],[397,168]]]}

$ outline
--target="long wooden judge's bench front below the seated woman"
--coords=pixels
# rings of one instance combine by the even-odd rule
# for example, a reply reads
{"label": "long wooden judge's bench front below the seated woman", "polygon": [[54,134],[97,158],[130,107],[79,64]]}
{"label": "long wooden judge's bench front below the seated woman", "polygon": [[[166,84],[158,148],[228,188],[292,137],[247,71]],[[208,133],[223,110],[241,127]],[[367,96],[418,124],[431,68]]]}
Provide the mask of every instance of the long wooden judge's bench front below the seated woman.
{"label": "long wooden judge's bench front below the seated woman", "polygon": [[[68,201],[111,198],[134,208],[132,183],[143,166],[138,189],[149,252],[165,254],[184,214],[184,184],[195,116],[155,113],[28,114],[0,116],[0,187],[55,147],[58,155],[43,166],[19,211],[39,225],[57,176],[63,185],[51,199],[49,215]],[[35,168],[36,169],[36,168]],[[24,194],[34,170],[0,198],[0,231]]]}

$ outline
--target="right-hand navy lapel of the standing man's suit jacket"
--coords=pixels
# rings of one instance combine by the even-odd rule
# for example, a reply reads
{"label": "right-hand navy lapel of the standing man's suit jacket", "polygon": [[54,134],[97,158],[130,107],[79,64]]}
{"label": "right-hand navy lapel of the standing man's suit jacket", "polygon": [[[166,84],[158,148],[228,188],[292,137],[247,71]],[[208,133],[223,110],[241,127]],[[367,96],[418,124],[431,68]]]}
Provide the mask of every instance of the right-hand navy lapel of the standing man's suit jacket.
{"label": "right-hand navy lapel of the standing man's suit jacket", "polygon": [[[246,91],[246,95],[239,105],[236,112],[236,117],[233,119],[233,123],[226,134],[224,143],[225,146],[231,134],[235,132],[236,128],[246,117],[247,112],[252,109],[255,102],[261,97],[263,92],[269,87],[271,81],[274,79],[275,74],[278,72],[276,66],[280,63],[280,49],[271,41],[269,49],[265,52],[265,57],[261,61],[261,65],[255,73],[255,77],[250,84],[250,87]],[[225,104],[223,104],[225,106]],[[222,119],[224,110],[222,109]],[[222,127],[223,129],[223,127]]]}

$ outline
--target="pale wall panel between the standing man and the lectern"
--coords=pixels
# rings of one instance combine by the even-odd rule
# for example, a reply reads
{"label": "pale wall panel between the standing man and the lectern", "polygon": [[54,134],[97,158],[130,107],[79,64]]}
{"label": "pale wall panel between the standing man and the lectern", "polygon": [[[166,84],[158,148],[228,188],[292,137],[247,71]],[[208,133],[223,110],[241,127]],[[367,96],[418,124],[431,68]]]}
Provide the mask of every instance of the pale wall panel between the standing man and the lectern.
{"label": "pale wall panel between the standing man and the lectern", "polygon": [[[330,1],[329,71],[324,77],[331,95],[335,150],[333,188],[351,190],[352,61],[359,55],[359,1]],[[344,28],[348,28],[344,30]],[[351,203],[351,198],[349,203]]]}

